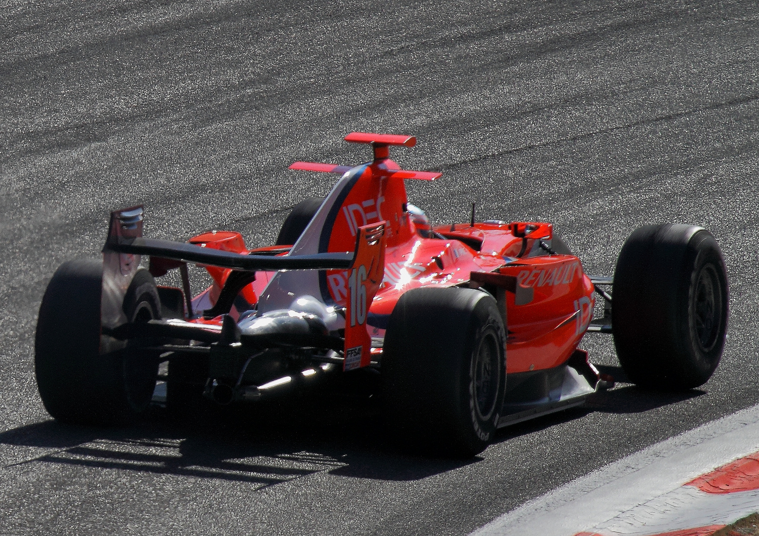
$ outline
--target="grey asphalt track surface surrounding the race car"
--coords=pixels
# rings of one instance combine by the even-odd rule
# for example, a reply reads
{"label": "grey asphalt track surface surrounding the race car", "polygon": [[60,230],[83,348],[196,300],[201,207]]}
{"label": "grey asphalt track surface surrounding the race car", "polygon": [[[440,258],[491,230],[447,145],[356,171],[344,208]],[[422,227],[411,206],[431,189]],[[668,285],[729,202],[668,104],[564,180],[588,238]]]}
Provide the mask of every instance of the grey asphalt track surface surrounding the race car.
{"label": "grey asphalt track surface surrounding the race car", "polygon": [[[73,7],[72,7],[73,5]],[[759,401],[759,10],[746,2],[0,3],[0,525],[8,534],[467,534],[643,447]],[[414,134],[435,222],[553,221],[612,274],[641,224],[713,231],[731,284],[700,390],[629,384],[506,428],[466,462],[390,449],[372,401],[72,428],[49,418],[33,334],[55,268],[108,212],[146,234],[269,244],[351,130]],[[645,318],[641,318],[644,321]],[[587,336],[617,366],[609,339]],[[364,409],[366,411],[364,411]]]}

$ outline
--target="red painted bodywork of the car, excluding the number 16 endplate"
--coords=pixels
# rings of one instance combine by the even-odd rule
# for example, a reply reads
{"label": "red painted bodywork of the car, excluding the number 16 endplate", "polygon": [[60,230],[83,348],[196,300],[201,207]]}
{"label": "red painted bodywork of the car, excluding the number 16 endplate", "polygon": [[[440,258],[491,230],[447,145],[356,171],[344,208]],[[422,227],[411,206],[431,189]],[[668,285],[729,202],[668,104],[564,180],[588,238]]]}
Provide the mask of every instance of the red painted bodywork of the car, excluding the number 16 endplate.
{"label": "red painted bodywork of the car, excluding the number 16 endplate", "polygon": [[[416,139],[367,133],[351,133],[345,139],[371,143],[375,158],[364,165],[363,171],[357,171],[360,175],[343,199],[332,224],[327,251],[353,251],[360,227],[386,221],[384,278],[370,306],[370,317],[375,324],[386,321],[398,298],[408,290],[425,286],[467,286],[473,271],[499,271],[516,277],[518,284],[533,290],[532,301],[521,306],[515,305],[514,293],[505,293],[509,331],[507,372],[553,368],[569,359],[591,321],[594,286],[583,273],[577,257],[545,255],[536,248],[538,240],[550,240],[553,236],[551,224],[449,224],[435,228],[443,238],[422,237],[405,211],[408,199],[402,177],[430,179],[440,174],[400,170],[395,161],[387,157],[389,145],[414,146]],[[294,168],[332,172],[345,166],[298,162]],[[248,252],[239,234],[222,231],[199,235],[191,239],[191,243]],[[277,247],[281,246],[272,246]],[[528,256],[536,252],[540,255]],[[520,254],[523,256],[517,259]],[[215,282],[209,289],[213,302],[228,270],[208,267],[208,271]],[[348,273],[332,270],[326,274],[329,293],[341,306],[345,306],[348,296]],[[245,299],[255,303],[271,276],[266,272],[257,274],[256,281],[244,290]],[[369,324],[371,321],[370,318]],[[372,325],[367,328],[373,337],[384,336],[382,328]],[[379,353],[380,349],[372,349],[373,356]]]}

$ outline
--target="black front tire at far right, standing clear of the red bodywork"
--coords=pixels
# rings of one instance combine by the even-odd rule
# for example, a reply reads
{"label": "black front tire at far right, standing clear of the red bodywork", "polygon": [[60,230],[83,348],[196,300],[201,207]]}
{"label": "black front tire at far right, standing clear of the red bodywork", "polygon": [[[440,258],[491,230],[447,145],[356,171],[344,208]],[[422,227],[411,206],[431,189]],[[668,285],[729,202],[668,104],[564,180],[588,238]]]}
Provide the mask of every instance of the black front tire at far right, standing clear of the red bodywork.
{"label": "black front tire at far right, standing clear of the red bodywork", "polygon": [[614,272],[614,346],[631,381],[682,390],[704,384],[720,363],[728,282],[709,231],[647,225],[625,241]]}

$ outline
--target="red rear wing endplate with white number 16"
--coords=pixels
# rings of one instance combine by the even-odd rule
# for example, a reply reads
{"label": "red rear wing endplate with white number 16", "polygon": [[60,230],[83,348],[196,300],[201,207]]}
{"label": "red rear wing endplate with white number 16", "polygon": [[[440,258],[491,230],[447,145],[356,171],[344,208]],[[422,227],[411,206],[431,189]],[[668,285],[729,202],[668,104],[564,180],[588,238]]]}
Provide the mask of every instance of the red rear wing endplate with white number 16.
{"label": "red rear wing endplate with white number 16", "polygon": [[345,312],[345,362],[348,371],[371,362],[372,340],[367,312],[385,272],[385,222],[364,225],[356,237],[356,254],[348,274]]}

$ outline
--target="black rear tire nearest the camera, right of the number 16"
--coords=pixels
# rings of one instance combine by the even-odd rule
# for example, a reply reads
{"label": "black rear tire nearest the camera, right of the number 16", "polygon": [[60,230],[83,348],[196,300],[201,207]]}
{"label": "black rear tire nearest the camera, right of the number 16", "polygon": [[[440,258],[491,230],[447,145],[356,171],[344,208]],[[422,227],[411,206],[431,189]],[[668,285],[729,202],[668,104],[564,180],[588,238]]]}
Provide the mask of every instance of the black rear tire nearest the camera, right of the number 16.
{"label": "black rear tire nearest the camera, right of the number 16", "polygon": [[505,392],[505,329],[479,290],[420,288],[390,315],[382,359],[386,421],[402,447],[471,457],[495,434]]}

